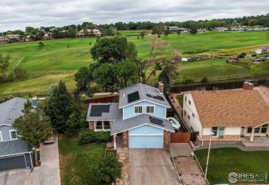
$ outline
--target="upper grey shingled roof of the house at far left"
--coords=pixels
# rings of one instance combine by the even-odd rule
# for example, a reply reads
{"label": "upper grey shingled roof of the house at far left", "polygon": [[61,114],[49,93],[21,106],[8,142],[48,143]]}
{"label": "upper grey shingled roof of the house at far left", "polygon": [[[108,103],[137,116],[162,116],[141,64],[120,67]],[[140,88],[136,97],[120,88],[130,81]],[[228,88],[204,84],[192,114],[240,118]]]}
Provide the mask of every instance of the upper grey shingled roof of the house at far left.
{"label": "upper grey shingled roof of the house at far left", "polygon": [[14,120],[23,115],[21,110],[24,108],[26,99],[15,97],[0,104],[0,126],[2,124],[12,125]]}

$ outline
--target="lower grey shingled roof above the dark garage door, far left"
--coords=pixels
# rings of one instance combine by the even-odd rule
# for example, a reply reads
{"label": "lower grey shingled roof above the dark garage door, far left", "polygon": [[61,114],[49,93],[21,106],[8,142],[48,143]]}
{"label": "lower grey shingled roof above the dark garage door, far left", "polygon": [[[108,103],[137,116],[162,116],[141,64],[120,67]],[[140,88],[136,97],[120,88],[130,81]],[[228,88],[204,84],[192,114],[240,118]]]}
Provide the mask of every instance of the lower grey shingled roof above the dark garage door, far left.
{"label": "lower grey shingled roof above the dark garage door, far left", "polygon": [[28,153],[32,147],[28,146],[21,139],[15,139],[8,142],[0,142],[0,157],[3,155],[15,155],[18,153]]}

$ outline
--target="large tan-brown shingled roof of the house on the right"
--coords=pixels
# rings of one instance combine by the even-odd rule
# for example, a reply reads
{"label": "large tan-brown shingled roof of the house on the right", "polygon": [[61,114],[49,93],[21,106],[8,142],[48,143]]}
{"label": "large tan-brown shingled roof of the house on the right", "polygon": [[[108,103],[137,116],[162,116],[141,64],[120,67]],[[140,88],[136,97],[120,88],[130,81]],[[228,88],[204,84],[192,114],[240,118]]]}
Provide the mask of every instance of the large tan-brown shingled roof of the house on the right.
{"label": "large tan-brown shingled roof of the house on the right", "polygon": [[202,126],[260,126],[269,106],[257,90],[191,91]]}

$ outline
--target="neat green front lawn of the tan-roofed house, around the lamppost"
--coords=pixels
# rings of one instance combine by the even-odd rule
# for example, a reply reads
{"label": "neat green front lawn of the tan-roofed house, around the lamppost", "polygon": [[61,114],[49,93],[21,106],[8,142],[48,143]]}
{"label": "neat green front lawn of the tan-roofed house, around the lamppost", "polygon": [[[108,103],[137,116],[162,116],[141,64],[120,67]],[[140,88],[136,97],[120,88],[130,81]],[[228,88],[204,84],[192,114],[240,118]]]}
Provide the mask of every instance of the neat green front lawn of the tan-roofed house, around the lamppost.
{"label": "neat green front lawn of the tan-roofed house, around the lamppost", "polygon": [[[195,155],[206,169],[208,149],[196,150]],[[210,149],[208,181],[210,184],[228,184],[229,173],[269,173],[269,151],[242,151],[238,148]],[[256,183],[257,184],[257,183]],[[261,183],[261,184],[264,184]]]}

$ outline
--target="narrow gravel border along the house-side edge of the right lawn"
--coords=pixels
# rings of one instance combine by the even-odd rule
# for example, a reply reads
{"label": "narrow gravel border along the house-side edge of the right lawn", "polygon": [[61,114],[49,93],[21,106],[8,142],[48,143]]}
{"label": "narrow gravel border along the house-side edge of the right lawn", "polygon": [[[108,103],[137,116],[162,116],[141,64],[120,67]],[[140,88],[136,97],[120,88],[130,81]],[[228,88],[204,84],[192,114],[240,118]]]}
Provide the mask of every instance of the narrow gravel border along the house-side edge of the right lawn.
{"label": "narrow gravel border along the house-side edge of the right lawn", "polygon": [[[255,146],[255,147],[245,147],[243,144],[222,144],[222,145],[211,145],[210,148],[228,148],[228,147],[236,147],[243,151],[258,151],[258,150],[269,150],[269,147],[263,146]],[[208,146],[200,146],[195,148],[195,150],[206,149]]]}

